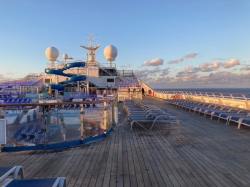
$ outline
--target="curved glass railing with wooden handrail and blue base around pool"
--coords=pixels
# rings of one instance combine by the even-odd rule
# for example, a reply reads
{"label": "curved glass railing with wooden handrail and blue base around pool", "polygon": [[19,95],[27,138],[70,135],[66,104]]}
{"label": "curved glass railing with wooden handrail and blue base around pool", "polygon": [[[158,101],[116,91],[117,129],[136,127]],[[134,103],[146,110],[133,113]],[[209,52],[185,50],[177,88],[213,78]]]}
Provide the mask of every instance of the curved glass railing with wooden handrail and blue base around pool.
{"label": "curved glass railing with wooden handrail and blue base around pool", "polygon": [[67,147],[104,137],[117,123],[117,103],[117,93],[101,100],[2,103],[0,116],[6,120],[9,140],[3,150]]}

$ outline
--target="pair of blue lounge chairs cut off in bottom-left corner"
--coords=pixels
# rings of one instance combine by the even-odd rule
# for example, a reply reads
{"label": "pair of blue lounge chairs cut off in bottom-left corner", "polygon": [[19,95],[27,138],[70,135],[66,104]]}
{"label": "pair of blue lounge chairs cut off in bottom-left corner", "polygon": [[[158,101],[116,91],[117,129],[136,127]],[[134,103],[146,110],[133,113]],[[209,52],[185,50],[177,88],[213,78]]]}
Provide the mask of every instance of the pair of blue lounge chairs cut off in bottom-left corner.
{"label": "pair of blue lounge chairs cut off in bottom-left corner", "polygon": [[[10,178],[13,175],[12,179]],[[20,179],[18,179],[20,178]],[[35,187],[66,187],[66,178],[25,179],[22,166],[0,167],[0,183],[3,187],[35,186]]]}

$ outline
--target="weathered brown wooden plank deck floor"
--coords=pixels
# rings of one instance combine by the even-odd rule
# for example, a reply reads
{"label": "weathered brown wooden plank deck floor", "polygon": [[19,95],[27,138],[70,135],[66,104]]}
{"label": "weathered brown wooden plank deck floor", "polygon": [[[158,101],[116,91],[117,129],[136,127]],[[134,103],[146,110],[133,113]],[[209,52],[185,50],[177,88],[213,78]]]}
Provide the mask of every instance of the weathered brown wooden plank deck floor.
{"label": "weathered brown wooden plank deck floor", "polygon": [[105,139],[61,152],[0,153],[0,165],[21,165],[26,178],[64,176],[68,186],[250,186],[250,128],[144,99],[188,121],[130,131],[119,106],[122,125]]}

